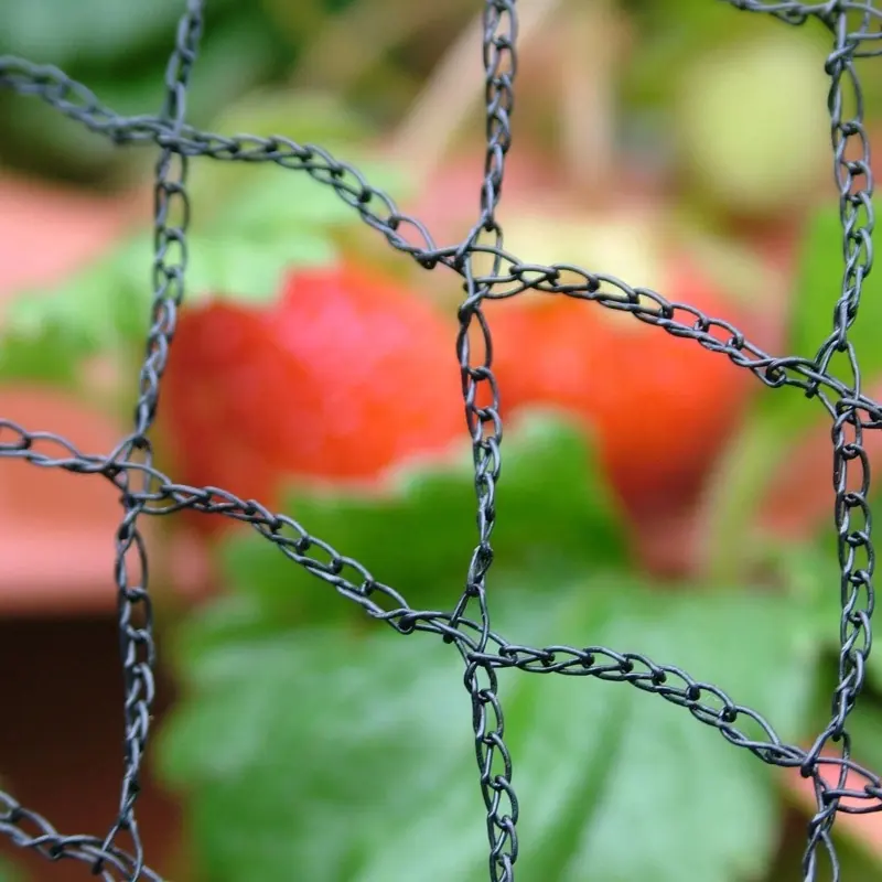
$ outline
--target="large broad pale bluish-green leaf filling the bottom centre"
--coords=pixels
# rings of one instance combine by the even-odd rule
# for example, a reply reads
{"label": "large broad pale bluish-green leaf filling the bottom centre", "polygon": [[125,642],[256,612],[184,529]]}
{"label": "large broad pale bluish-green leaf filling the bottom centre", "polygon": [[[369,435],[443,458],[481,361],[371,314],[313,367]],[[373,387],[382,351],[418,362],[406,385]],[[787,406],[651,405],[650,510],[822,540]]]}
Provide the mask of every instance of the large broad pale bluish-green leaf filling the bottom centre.
{"label": "large broad pale bluish-green leaf filling the bottom centre", "polygon": [[[493,625],[513,641],[644,650],[718,682],[786,739],[803,725],[816,649],[790,599],[654,593],[603,573],[498,589]],[[486,879],[455,649],[380,625],[260,633],[245,617],[215,609],[187,628],[187,698],[159,742],[206,879]],[[687,709],[521,671],[501,674],[499,695],[525,879],[681,882],[688,849],[689,878],[740,882],[770,859],[773,777]]]}

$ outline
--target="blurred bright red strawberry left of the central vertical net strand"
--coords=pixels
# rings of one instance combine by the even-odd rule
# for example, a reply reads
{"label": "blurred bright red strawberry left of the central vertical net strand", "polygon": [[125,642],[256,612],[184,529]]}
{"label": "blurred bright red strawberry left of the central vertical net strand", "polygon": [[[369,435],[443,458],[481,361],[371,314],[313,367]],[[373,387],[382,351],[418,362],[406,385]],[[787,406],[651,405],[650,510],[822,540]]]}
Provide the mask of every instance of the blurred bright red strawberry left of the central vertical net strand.
{"label": "blurred bright red strawberry left of the central vertical net strand", "polygon": [[160,407],[176,477],[276,506],[289,480],[374,482],[441,453],[466,437],[454,341],[352,265],[292,272],[267,308],[185,306]]}

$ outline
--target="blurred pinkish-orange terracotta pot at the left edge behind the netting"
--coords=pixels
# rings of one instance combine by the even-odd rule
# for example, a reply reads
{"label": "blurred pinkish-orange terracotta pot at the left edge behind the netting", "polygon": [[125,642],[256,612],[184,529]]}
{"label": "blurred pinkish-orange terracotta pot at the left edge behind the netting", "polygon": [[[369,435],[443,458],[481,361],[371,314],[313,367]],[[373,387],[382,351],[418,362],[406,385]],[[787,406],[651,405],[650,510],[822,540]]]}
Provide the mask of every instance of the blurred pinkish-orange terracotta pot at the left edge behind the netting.
{"label": "blurred pinkish-orange terracotta pot at the left edge behind the netting", "polygon": [[[149,216],[142,193],[97,197],[15,179],[0,180],[0,321],[17,291],[57,282],[121,235],[136,213]],[[126,428],[67,395],[26,385],[0,386],[0,416],[94,453],[110,450]],[[41,450],[57,455],[60,448]],[[100,477],[0,462],[0,614],[112,609],[117,495]],[[155,526],[147,524],[147,533]],[[196,551],[173,544],[166,558],[186,562],[175,580],[185,589],[204,580]]]}

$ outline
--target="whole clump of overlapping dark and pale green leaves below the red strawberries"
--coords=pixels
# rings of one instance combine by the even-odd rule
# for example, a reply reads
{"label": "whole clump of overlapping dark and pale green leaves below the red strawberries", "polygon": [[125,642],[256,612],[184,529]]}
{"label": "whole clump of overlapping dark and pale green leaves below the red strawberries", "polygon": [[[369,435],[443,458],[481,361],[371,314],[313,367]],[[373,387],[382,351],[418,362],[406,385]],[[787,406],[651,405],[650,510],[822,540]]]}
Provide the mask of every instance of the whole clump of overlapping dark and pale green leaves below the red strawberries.
{"label": "whole clump of overlapping dark and pale green leaves below the red strawberries", "polygon": [[[817,659],[811,604],[738,587],[671,594],[635,579],[591,462],[581,433],[549,417],[509,432],[494,628],[530,646],[579,646],[590,635],[700,670],[736,701],[774,711],[778,731],[794,738],[807,722]],[[456,560],[469,542],[459,534],[473,509],[467,458],[462,465],[444,477],[406,473],[379,502],[300,490],[286,509],[344,553],[364,551],[377,578],[417,607],[445,607],[460,591],[466,561]],[[190,794],[207,878],[239,882],[257,870],[283,879],[295,865],[315,882],[390,880],[416,863],[424,880],[483,879],[456,653],[378,624],[359,633],[355,606],[283,567],[259,537],[234,539],[226,557],[235,591],[183,630],[176,660],[190,699],[160,747],[164,775]],[[520,832],[531,843],[521,852],[527,875],[680,880],[687,841],[702,880],[734,882],[763,868],[778,809],[755,759],[685,709],[624,685],[501,676]],[[635,831],[659,815],[665,833],[634,848]]]}

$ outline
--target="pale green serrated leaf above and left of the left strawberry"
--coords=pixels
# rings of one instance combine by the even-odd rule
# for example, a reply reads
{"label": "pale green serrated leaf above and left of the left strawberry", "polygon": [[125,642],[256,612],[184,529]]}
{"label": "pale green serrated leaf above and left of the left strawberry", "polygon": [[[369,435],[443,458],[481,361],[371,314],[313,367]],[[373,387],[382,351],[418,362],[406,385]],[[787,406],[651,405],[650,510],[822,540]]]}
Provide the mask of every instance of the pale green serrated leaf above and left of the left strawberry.
{"label": "pale green serrated leaf above and left of the left strawberry", "polygon": [[[314,123],[316,132],[323,129]],[[407,193],[399,169],[369,159],[358,164],[378,186]],[[204,163],[192,192],[197,209],[189,237],[187,302],[270,299],[286,270],[332,262],[353,236],[376,237],[332,187],[302,169]],[[15,298],[0,330],[0,380],[77,390],[79,368],[93,356],[140,354],[153,295],[152,244],[151,233],[138,232],[58,286]]]}

